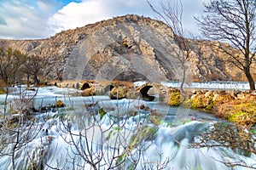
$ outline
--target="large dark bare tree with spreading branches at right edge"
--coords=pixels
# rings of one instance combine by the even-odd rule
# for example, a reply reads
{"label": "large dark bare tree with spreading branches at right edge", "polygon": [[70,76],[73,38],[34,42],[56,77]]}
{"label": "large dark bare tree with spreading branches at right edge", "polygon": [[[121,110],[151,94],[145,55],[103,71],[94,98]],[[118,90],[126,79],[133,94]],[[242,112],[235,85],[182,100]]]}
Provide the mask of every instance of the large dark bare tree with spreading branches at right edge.
{"label": "large dark bare tree with spreading branches at right edge", "polygon": [[229,42],[240,54],[219,46],[230,57],[229,61],[243,71],[255,90],[251,65],[256,54],[255,20],[256,2],[253,0],[211,0],[204,4],[205,15],[195,18],[203,36],[212,40]]}

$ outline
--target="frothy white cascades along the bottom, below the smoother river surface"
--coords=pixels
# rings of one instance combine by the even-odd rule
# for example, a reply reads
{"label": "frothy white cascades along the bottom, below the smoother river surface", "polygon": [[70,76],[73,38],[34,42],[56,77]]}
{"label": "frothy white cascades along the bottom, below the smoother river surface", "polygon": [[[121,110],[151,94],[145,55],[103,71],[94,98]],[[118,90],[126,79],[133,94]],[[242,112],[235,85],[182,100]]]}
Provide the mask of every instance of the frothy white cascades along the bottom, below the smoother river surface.
{"label": "frothy white cascades along the bottom, below the smoother river surface", "polygon": [[[130,117],[127,120],[120,120],[118,124],[109,123],[108,119],[109,116],[106,115],[99,124],[82,131],[76,127],[67,129],[68,126],[73,125],[69,125],[70,122],[67,121],[60,122],[57,117],[49,119],[44,123],[44,127],[34,129],[38,131],[36,138],[15,151],[16,168],[29,169],[32,166],[42,165],[44,169],[90,169],[91,166],[82,159],[82,156],[93,153],[91,159],[96,160],[97,156],[103,156],[99,167],[104,169],[108,167],[108,161],[106,162],[109,159],[108,156],[125,154],[125,150],[129,148],[132,138],[136,138],[136,135],[145,135],[147,139],[137,140],[140,144],[131,148],[124,166],[131,167],[134,162],[129,160],[134,159],[139,160],[136,169],[142,170],[145,167],[158,169],[157,167],[160,166],[165,167],[164,169],[233,169],[226,167],[221,161],[243,160],[247,165],[256,163],[255,156],[241,156],[224,147],[189,148],[189,144],[194,142],[195,137],[200,136],[206,128],[210,128],[212,122],[192,121],[177,127],[150,125],[148,127],[150,130],[147,132],[152,128],[155,133],[152,131],[148,134],[137,132],[140,122],[147,122],[146,116],[141,116],[139,121],[136,117]],[[120,124],[125,126],[119,127]],[[9,144],[5,150],[12,148],[12,144]],[[143,153],[138,153],[142,150]],[[84,153],[80,153],[81,151]],[[3,169],[12,169],[11,156],[1,156],[0,165]],[[239,169],[247,168],[239,167]]]}

